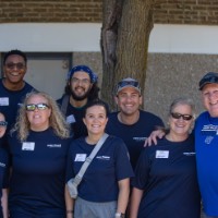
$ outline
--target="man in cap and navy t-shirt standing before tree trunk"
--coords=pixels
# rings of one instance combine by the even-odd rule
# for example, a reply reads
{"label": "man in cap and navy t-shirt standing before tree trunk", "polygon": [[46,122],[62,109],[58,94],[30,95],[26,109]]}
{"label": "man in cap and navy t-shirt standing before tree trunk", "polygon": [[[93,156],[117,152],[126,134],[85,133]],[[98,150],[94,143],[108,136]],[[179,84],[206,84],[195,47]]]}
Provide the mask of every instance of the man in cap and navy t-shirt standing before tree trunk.
{"label": "man in cap and navy t-shirt standing before tree trunk", "polygon": [[118,83],[114,100],[120,111],[109,114],[106,132],[124,141],[134,169],[145,140],[164,123],[157,116],[140,109],[143,97],[140,83],[134,78]]}

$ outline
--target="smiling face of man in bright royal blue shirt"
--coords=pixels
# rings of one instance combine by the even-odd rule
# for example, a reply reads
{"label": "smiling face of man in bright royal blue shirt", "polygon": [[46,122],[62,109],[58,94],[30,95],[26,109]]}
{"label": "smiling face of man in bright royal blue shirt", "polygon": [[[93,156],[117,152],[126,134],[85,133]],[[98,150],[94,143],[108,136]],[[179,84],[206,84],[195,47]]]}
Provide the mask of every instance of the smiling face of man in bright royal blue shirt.
{"label": "smiling face of man in bright royal blue shirt", "polygon": [[214,118],[218,117],[218,84],[207,84],[202,89],[202,101]]}

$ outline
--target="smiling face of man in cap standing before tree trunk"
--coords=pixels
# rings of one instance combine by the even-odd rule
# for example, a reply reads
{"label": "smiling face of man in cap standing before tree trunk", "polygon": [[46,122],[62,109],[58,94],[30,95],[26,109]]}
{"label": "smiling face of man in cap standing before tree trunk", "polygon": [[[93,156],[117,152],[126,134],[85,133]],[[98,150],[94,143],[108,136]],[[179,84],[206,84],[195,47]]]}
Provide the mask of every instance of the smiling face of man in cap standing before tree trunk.
{"label": "smiling face of man in cap standing before tree trunk", "polygon": [[137,113],[138,108],[142,105],[142,96],[135,88],[126,87],[118,93],[116,102],[122,113],[132,116]]}

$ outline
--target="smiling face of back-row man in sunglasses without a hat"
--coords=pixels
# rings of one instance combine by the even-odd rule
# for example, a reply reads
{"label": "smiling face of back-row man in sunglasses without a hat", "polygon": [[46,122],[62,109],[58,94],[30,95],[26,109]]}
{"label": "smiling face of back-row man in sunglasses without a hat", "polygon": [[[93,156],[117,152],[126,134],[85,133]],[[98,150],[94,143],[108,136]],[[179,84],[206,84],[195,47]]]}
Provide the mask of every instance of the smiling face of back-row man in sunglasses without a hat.
{"label": "smiling face of back-row man in sunglasses without a hat", "polygon": [[8,86],[22,84],[23,77],[26,73],[26,63],[24,58],[19,55],[9,56],[3,65],[3,72]]}

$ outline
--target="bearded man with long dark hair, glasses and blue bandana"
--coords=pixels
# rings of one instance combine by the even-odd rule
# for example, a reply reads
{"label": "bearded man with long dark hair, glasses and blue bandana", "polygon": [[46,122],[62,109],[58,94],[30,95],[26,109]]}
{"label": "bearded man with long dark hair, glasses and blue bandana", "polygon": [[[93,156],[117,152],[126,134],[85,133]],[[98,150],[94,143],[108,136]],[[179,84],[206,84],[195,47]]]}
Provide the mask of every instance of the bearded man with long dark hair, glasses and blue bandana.
{"label": "bearded man with long dark hair, glasses and blue bandana", "polygon": [[58,104],[61,111],[71,124],[73,137],[87,135],[83,123],[83,112],[86,104],[98,98],[99,87],[97,75],[86,65],[76,65],[71,69],[65,86],[65,94]]}

